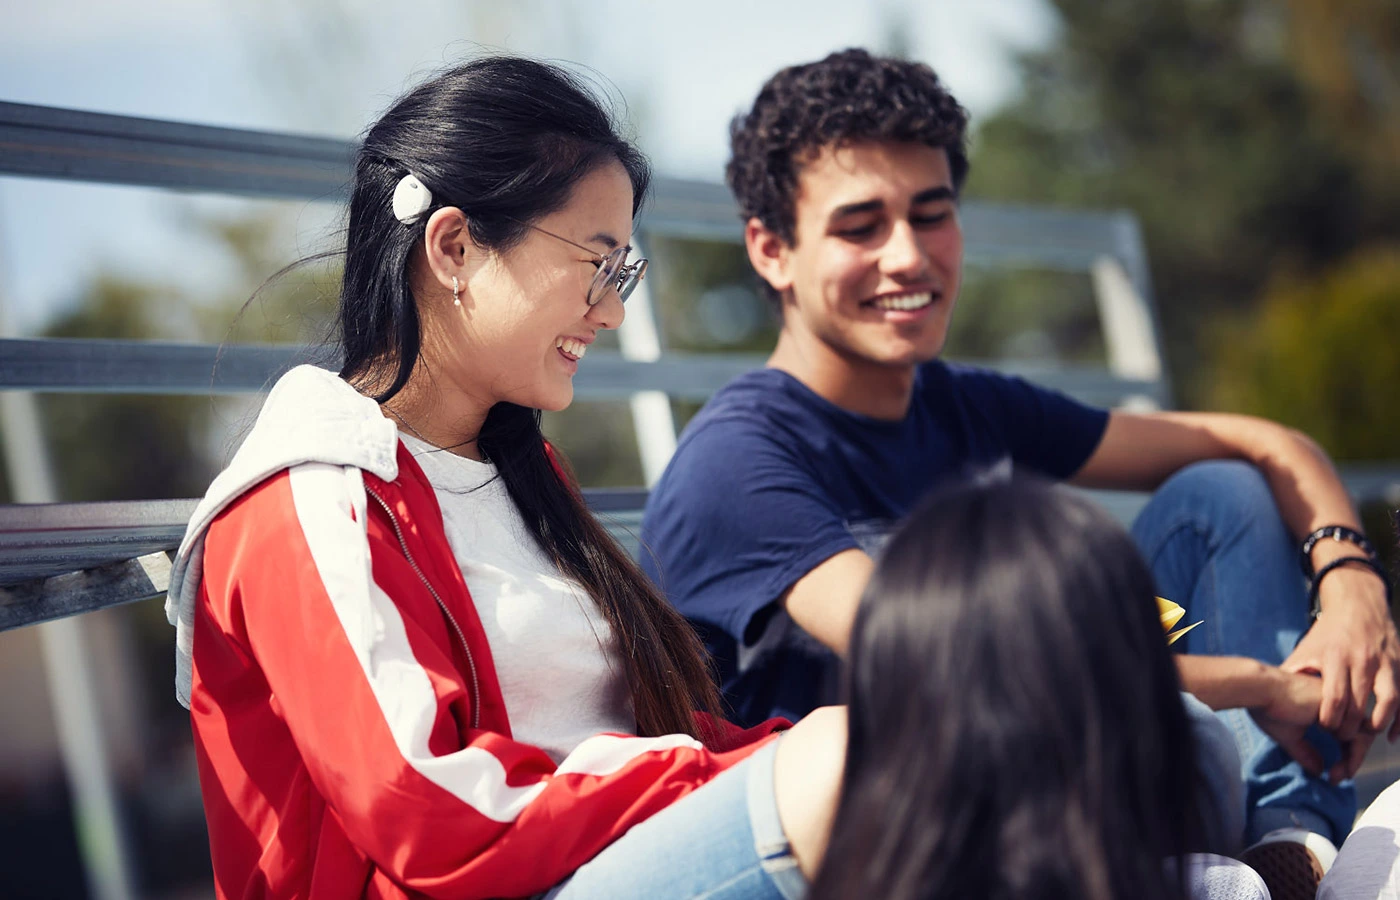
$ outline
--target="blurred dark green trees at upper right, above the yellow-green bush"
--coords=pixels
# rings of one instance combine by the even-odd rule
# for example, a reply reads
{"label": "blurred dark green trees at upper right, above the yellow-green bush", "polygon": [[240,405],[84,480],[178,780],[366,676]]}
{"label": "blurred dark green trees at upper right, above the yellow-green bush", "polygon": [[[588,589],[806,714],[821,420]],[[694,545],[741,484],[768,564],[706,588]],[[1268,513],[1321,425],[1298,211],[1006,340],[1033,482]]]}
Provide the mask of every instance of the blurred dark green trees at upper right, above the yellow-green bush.
{"label": "blurred dark green trees at upper right, above the yellow-green bush", "polygon": [[[1060,34],[1019,57],[1022,94],[981,123],[967,193],[1135,211],[1179,396],[1201,403],[1228,363],[1217,316],[1400,238],[1400,4],[1051,6]],[[1351,353],[1393,353],[1364,337]]]}

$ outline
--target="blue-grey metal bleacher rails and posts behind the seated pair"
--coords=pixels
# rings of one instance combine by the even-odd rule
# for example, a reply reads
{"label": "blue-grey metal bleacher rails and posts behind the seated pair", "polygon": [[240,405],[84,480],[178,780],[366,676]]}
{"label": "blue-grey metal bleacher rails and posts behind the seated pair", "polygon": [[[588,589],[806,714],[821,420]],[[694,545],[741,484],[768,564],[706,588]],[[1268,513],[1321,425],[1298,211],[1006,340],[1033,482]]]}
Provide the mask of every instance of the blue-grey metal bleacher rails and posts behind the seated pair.
{"label": "blue-grey metal bleacher rails and posts behind the seated pair", "polygon": [[[353,153],[351,143],[323,137],[0,102],[0,175],[339,203]],[[1099,405],[1170,405],[1145,255],[1131,214],[967,203],[962,218],[972,263],[1093,274],[1109,367],[1030,367],[1022,374]],[[638,235],[641,242],[742,239],[722,185],[666,178],[657,179]],[[585,399],[633,399],[638,441],[651,444],[641,448],[651,480],[675,434],[669,410],[659,423],[655,414],[643,421],[647,395],[703,400],[762,358],[665,353],[650,298],[641,301],[629,304],[622,353],[589,354],[575,391]],[[0,392],[246,393],[265,391],[280,372],[316,353],[291,346],[7,337],[0,339]],[[644,493],[585,493],[627,537]],[[169,568],[165,553],[178,544],[192,508],[189,500],[0,507],[0,630],[158,596]]]}

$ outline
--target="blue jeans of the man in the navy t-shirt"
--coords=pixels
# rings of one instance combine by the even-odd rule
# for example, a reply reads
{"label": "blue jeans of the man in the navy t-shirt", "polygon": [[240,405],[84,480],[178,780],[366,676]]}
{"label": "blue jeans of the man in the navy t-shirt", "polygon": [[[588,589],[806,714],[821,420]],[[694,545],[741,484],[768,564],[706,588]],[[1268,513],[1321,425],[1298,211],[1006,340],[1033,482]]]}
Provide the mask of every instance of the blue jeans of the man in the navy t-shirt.
{"label": "blue jeans of the man in the navy t-shirt", "polygon": [[[1242,462],[1204,462],[1172,476],[1133,523],[1162,596],[1186,607],[1189,654],[1252,656],[1278,665],[1308,628],[1308,593],[1298,550],[1268,484]],[[1239,747],[1245,775],[1246,843],[1298,826],[1334,844],[1351,830],[1357,791],[1303,773],[1243,710],[1217,714]],[[1308,739],[1331,766],[1341,749],[1313,728]]]}

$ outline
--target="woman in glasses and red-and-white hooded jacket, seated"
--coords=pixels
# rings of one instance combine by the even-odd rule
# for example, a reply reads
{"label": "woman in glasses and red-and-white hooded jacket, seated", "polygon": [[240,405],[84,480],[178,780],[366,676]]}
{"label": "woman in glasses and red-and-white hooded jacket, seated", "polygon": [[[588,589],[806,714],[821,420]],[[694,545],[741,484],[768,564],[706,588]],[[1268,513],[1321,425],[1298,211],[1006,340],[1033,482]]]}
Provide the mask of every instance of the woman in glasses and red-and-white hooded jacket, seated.
{"label": "woman in glasses and red-and-white hooded jacket, seated", "polygon": [[339,372],[195,512],[168,613],[220,897],[795,897],[844,715],[725,724],[540,410],[623,318],[644,157],[567,71],[458,66],[356,158]]}

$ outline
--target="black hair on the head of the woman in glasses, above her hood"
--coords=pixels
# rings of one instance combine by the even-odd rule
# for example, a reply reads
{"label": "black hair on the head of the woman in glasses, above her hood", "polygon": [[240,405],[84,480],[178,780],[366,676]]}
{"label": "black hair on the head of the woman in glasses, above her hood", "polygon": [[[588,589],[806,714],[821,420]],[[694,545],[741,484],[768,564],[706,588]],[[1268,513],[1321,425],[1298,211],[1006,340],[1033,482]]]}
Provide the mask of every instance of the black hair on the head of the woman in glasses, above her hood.
{"label": "black hair on the head of the woman in glasses, above her hood", "polygon": [[[388,382],[378,382],[384,400],[417,361],[409,262],[433,209],[459,207],[477,246],[507,251],[610,160],[631,178],[636,211],[651,178],[645,157],[580,78],[549,63],[486,56],[399,98],[370,126],[356,160],[340,293],[343,375],[392,364]],[[393,192],[409,174],[433,204],[405,227]]]}

